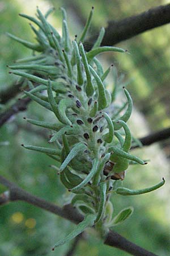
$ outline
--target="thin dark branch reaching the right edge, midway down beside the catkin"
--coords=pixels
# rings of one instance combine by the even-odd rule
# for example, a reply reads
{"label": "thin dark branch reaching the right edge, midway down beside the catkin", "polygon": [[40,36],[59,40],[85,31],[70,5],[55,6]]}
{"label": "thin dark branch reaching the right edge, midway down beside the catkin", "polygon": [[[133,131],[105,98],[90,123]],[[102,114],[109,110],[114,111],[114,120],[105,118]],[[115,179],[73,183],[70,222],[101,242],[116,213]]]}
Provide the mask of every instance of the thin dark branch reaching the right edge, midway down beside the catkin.
{"label": "thin dark branch reaching the right edge, midway down beside the catkin", "polygon": [[[143,146],[149,146],[155,142],[163,141],[164,139],[170,138],[170,127],[165,128],[163,130],[155,131],[147,135],[146,137],[139,138],[139,141],[143,144]],[[137,148],[138,146],[133,146],[132,148]]]}

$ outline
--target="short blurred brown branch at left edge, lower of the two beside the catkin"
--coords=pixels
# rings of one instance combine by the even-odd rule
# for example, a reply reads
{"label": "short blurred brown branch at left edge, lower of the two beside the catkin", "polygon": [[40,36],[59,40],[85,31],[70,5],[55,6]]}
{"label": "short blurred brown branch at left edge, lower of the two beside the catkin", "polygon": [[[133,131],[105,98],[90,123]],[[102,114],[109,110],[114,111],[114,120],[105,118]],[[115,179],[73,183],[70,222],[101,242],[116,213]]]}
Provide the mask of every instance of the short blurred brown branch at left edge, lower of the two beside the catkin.
{"label": "short blurred brown branch at left edge, lower of the two beside the catkin", "polygon": [[0,127],[8,121],[12,117],[12,115],[15,115],[21,111],[24,111],[27,109],[28,103],[31,101],[30,98],[25,98],[23,100],[17,101],[14,105],[11,106],[10,109],[6,110],[2,114],[0,114]]}

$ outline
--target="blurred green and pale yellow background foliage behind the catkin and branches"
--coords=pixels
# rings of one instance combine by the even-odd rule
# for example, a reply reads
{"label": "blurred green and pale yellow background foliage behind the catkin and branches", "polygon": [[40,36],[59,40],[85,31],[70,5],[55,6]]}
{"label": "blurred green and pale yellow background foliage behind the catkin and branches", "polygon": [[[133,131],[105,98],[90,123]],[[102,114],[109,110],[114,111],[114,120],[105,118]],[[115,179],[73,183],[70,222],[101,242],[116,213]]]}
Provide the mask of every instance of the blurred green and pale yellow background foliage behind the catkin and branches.
{"label": "blurred green and pale yellow background foliage behind the catkin and branches", "polygon": [[[59,7],[65,7],[70,32],[79,34],[86,22],[86,17],[95,6],[95,14],[89,34],[95,34],[101,26],[107,26],[108,20],[122,19],[141,13],[151,7],[164,5],[170,1],[163,0],[1,0],[0,1],[0,90],[11,86],[17,78],[8,75],[7,64],[18,58],[29,56],[24,46],[7,37],[10,32],[33,42],[33,34],[28,20],[18,14],[34,16],[36,6],[45,13],[49,7],[56,7],[49,20],[61,30],[61,13]],[[135,137],[147,135],[152,131],[170,126],[170,24],[155,28],[118,44],[128,49],[130,54],[109,53],[102,56],[104,67],[113,63],[118,69],[118,76],[124,74],[124,81],[129,81],[129,89],[134,111],[129,125]],[[113,86],[113,81],[109,81]],[[15,100],[1,105],[3,112]],[[1,103],[1,102],[0,102]],[[0,112],[0,113],[1,113]],[[0,130],[0,173],[20,187],[58,205],[67,203],[65,188],[60,184],[56,172],[49,167],[54,164],[48,156],[25,150],[20,144],[46,145],[44,130],[28,126],[23,120],[26,115],[32,119],[50,119],[50,114],[34,102],[28,106],[26,113],[19,113],[5,123]],[[2,143],[5,142],[5,143]],[[151,250],[158,255],[169,255],[170,251],[170,200],[169,200],[169,140],[153,144],[133,154],[143,159],[150,159],[145,167],[130,167],[124,181],[125,187],[144,188],[158,183],[162,177],[166,183],[158,191],[141,196],[113,197],[114,213],[122,208],[133,206],[133,215],[115,231],[130,241]],[[5,144],[2,146],[2,144]],[[0,185],[0,193],[5,191]],[[73,224],[23,202],[15,202],[0,208],[0,255],[2,256],[37,256],[65,255],[71,243],[51,251],[53,244],[64,237],[73,228]],[[79,242],[75,256],[128,255],[113,247],[103,245],[96,234],[88,232]]]}

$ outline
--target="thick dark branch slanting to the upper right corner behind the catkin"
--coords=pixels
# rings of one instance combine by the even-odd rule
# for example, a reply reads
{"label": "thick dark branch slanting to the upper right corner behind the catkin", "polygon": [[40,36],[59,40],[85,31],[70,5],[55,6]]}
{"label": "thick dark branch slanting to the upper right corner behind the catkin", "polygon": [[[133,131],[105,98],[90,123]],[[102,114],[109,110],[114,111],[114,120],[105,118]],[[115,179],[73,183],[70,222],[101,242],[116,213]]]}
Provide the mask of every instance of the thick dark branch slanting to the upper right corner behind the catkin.
{"label": "thick dark branch slanting to the upper right corner behind the catkin", "polygon": [[[122,20],[108,22],[102,46],[113,46],[121,41],[132,38],[152,28],[163,26],[170,22],[170,4],[157,6],[141,14],[130,16]],[[96,40],[96,35],[85,43],[89,51]]]}

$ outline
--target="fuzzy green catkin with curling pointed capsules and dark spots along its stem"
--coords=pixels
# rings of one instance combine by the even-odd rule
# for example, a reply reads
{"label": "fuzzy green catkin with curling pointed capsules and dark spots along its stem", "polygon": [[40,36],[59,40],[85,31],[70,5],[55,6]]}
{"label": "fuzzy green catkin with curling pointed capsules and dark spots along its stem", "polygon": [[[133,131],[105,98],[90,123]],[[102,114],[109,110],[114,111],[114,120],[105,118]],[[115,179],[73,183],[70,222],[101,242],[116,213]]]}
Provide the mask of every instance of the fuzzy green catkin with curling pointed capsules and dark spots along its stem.
{"label": "fuzzy green catkin with curling pointed capsules and dark spots along its stem", "polygon": [[[160,188],[165,181],[163,179],[153,187],[138,190],[119,187],[129,164],[143,165],[146,162],[129,153],[133,137],[126,122],[130,118],[133,102],[128,90],[124,88],[128,102],[122,107],[114,104],[113,111],[109,108],[117,97],[118,86],[125,84],[123,77],[118,77],[116,68],[112,69],[116,85],[110,93],[106,81],[113,65],[104,72],[96,56],[103,52],[126,51],[118,47],[100,47],[104,28],[101,28],[91,51],[84,51],[82,42],[90,27],[93,8],[80,39],[77,42],[75,36],[72,44],[65,9],[61,9],[62,36],[46,20],[52,10],[43,15],[37,8],[38,19],[20,14],[38,26],[35,28],[30,24],[37,43],[9,34],[12,39],[33,50],[33,56],[21,59],[18,61],[20,65],[11,65],[9,68],[13,69],[10,73],[22,77],[22,81],[26,80],[25,84],[29,87],[29,92],[25,92],[21,98],[28,96],[55,115],[52,116],[53,122],[24,118],[28,123],[51,130],[49,142],[54,143],[54,148],[22,146],[42,152],[56,161],[54,168],[61,183],[73,192],[71,204],[84,216],[73,232],[53,247],[54,250],[78,236],[88,226],[96,223],[95,228],[103,236],[108,228],[129,217],[133,212],[131,207],[122,209],[112,218],[112,192],[123,196],[139,195]],[[20,71],[22,69],[25,72]],[[44,96],[44,91],[47,96]],[[128,108],[125,110],[126,105]],[[122,110],[124,114],[120,116]],[[125,138],[121,135],[122,128]]]}

